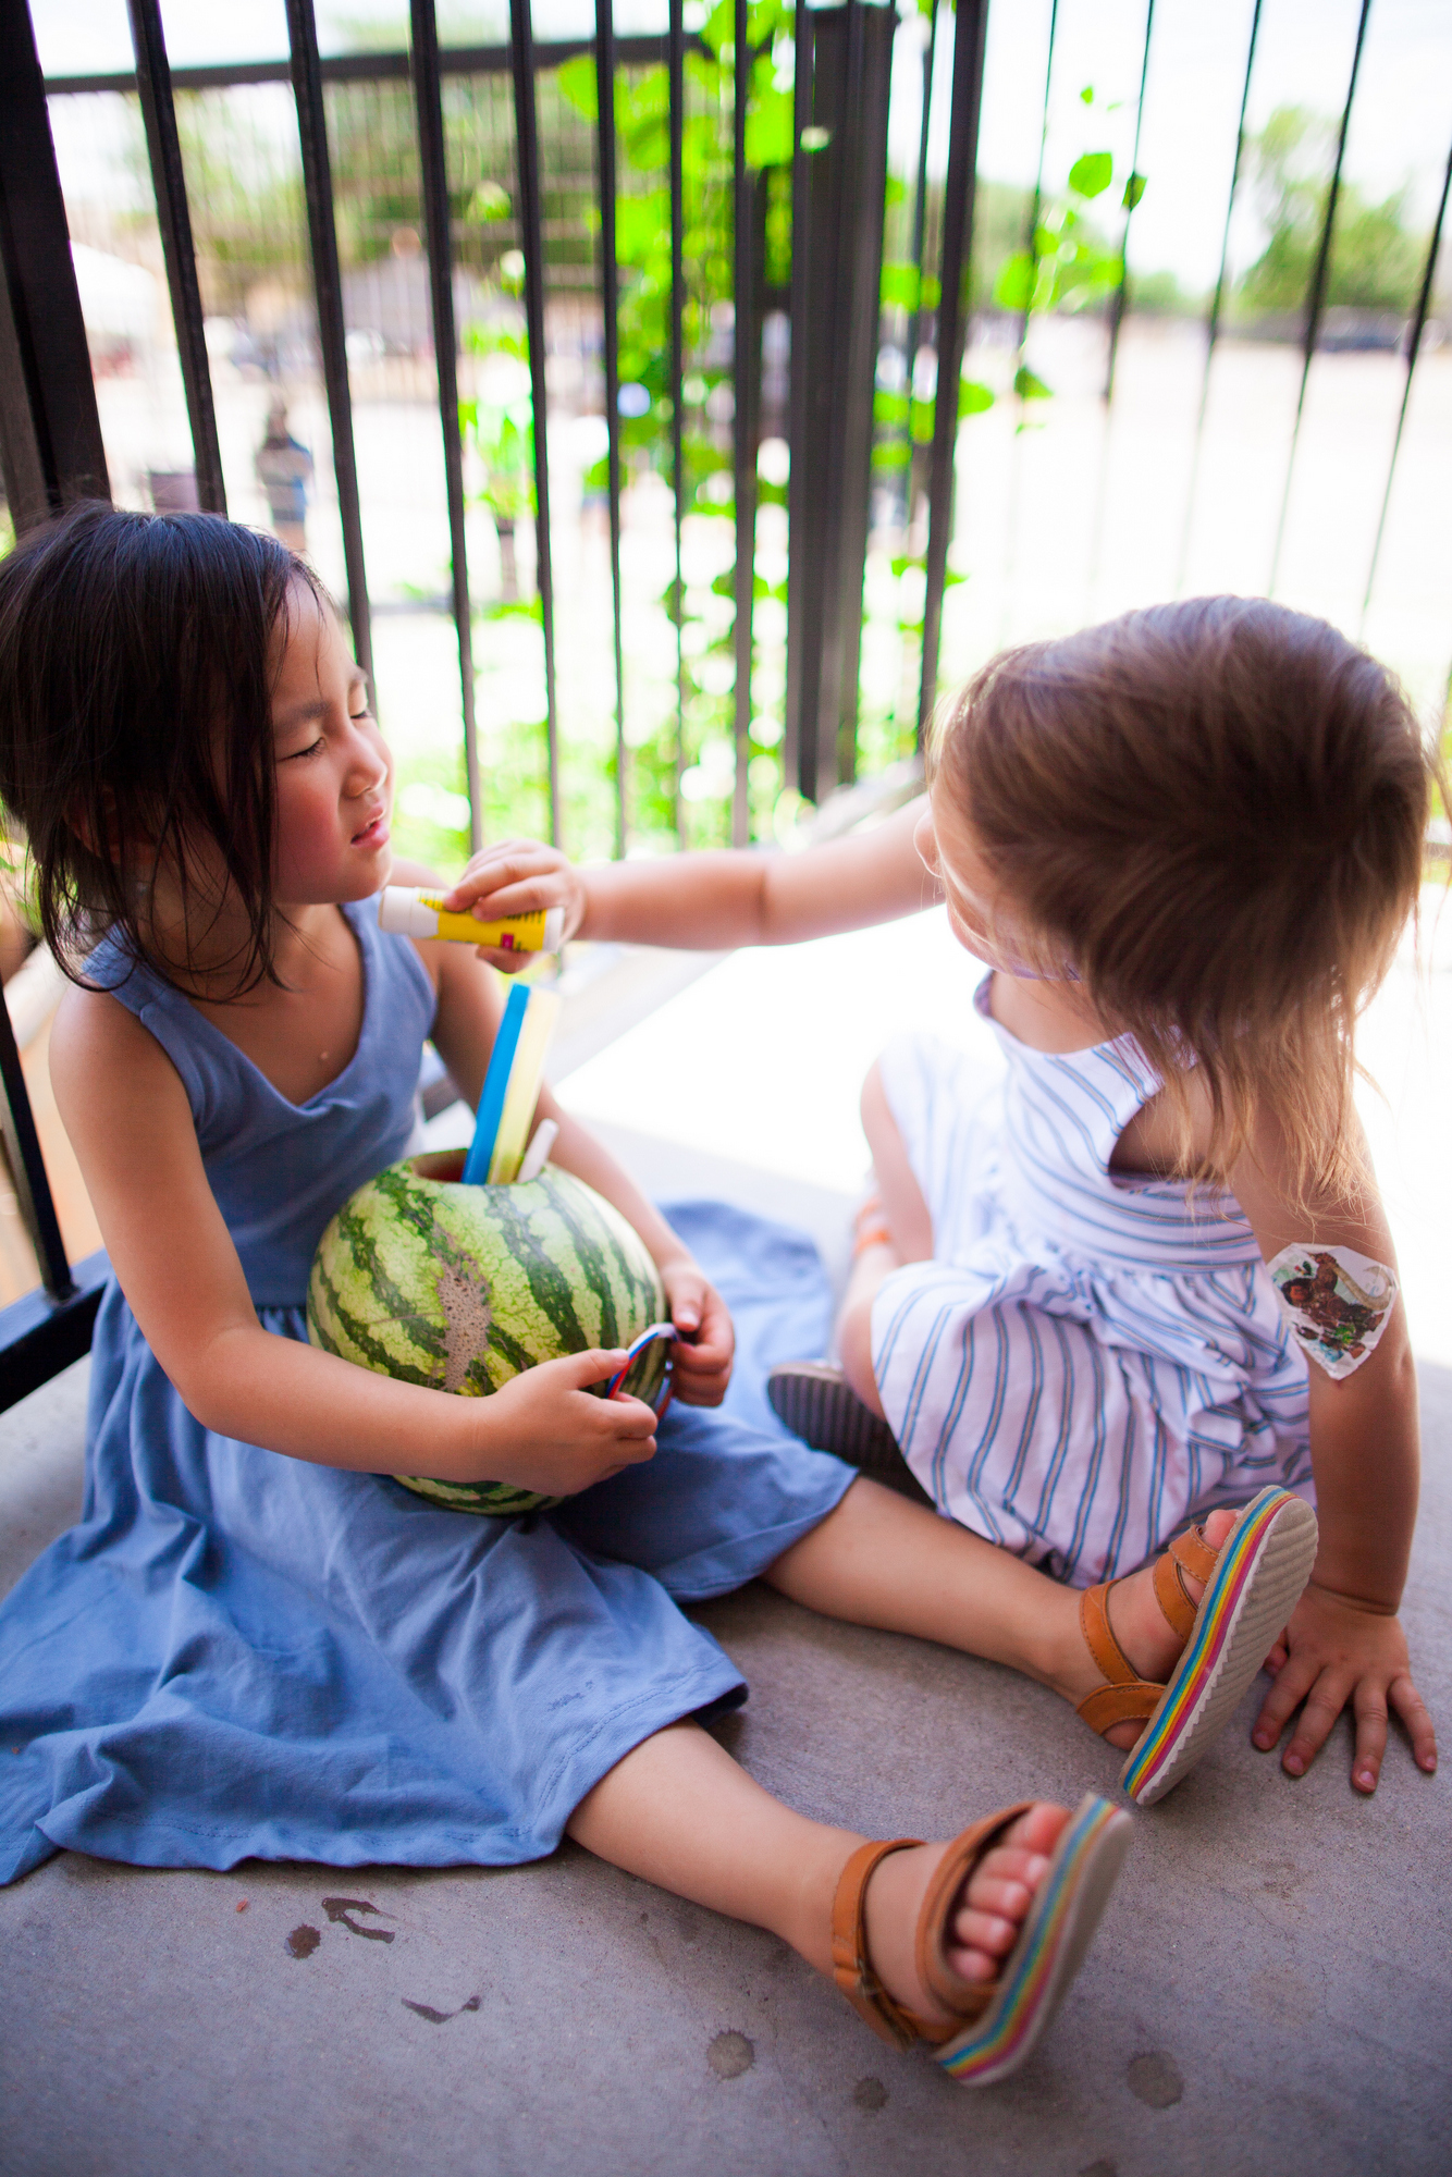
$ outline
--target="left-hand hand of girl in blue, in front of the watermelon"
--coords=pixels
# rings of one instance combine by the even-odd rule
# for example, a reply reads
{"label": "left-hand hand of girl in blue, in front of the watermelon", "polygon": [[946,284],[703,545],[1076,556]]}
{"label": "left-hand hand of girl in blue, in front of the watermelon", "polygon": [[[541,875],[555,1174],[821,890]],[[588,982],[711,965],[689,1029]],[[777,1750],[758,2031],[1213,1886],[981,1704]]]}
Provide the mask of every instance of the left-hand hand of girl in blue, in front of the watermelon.
{"label": "left-hand hand of girl in blue, in front of the watermelon", "polygon": [[575,1496],[655,1456],[655,1415],[640,1398],[596,1398],[592,1385],[625,1367],[625,1352],[566,1354],[512,1376],[481,1402],[479,1469],[462,1480],[512,1483]]}

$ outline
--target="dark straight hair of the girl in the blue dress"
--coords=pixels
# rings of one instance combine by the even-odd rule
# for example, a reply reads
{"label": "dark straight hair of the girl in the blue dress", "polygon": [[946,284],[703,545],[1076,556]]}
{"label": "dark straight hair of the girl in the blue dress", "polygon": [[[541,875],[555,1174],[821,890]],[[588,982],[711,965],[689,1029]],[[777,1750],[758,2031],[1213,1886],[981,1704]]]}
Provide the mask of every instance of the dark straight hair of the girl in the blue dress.
{"label": "dark straight hair of the girl in the blue dress", "polygon": [[274,980],[270,701],[294,583],[324,603],[257,529],[96,503],[0,559],[0,801],[72,980],[107,932],[144,954],[159,856],[183,910],[218,910],[216,884],[198,886],[205,842],[246,914],[233,995]]}

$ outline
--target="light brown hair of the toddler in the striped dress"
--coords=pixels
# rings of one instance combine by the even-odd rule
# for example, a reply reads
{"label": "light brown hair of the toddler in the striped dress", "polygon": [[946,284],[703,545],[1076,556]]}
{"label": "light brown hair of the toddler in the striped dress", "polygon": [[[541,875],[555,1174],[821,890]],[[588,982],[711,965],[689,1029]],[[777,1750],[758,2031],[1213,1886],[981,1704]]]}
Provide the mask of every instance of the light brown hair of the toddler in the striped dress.
{"label": "light brown hair of the toddler in the striped dress", "polygon": [[1165,1080],[1186,1173],[1223,1184],[1271,1112],[1302,1204],[1361,1180],[1354,1023],[1417,906],[1432,775],[1385,666],[1245,596],[1006,651],[930,751],[934,790],[1034,934],[1032,964],[1071,960]]}

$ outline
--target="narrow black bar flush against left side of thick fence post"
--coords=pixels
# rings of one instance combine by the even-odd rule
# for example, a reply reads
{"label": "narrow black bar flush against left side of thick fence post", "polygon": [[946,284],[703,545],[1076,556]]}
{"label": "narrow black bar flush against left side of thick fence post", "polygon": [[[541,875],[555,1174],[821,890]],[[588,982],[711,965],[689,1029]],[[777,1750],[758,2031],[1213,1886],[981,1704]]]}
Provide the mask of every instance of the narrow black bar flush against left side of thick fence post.
{"label": "narrow black bar flush against left side of thick fence post", "polygon": [[782,777],[795,779],[797,790],[816,799],[816,668],[812,644],[812,614],[803,610],[808,599],[816,599],[819,581],[814,553],[808,544],[812,507],[808,503],[808,435],[810,435],[810,372],[808,372],[808,307],[812,294],[810,250],[812,250],[812,159],[803,150],[801,135],[812,126],[812,15],[805,0],[797,0],[792,20],[792,353],[788,385],[788,440],[790,470],[786,479],[786,731],[782,736]]}

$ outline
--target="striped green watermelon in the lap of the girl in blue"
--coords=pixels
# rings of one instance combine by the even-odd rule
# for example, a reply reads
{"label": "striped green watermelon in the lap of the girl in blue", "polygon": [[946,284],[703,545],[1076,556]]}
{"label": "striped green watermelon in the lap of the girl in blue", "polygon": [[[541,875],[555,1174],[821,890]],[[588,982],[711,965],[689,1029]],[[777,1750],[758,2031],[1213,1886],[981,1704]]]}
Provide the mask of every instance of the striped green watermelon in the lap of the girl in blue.
{"label": "striped green watermelon in the lap of the girl in blue", "polygon": [[[546,1165],[525,1184],[462,1186],[459,1169],[462,1158],[390,1165],[344,1202],[307,1284],[313,1345],[381,1376],[488,1398],[520,1369],[629,1345],[664,1319],[644,1241],[583,1180]],[[625,1389],[655,1402],[666,1350],[651,1341]],[[490,1517],[562,1502],[507,1483],[398,1480]]]}

